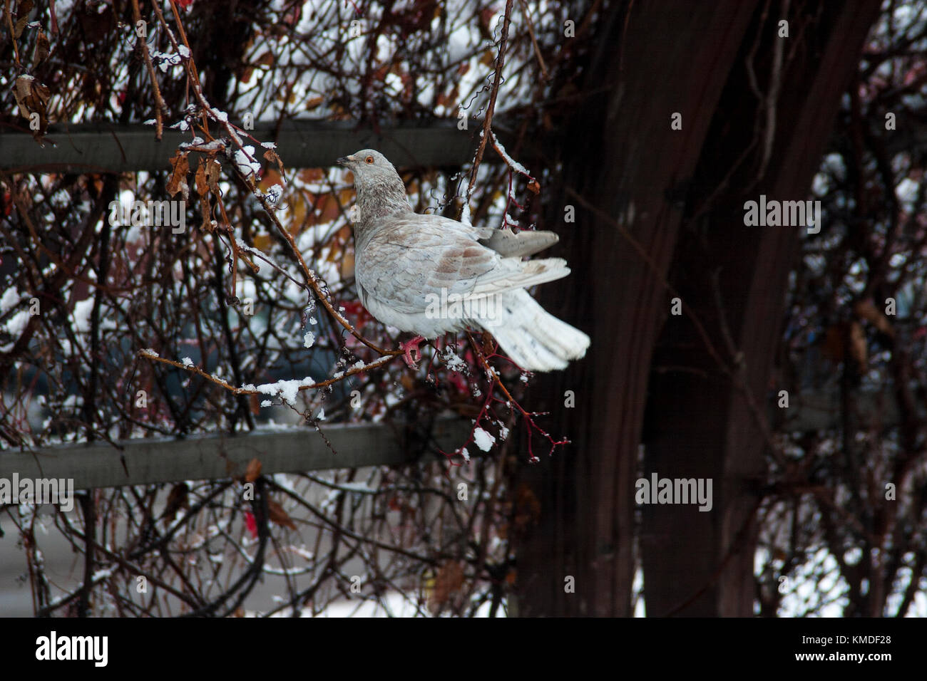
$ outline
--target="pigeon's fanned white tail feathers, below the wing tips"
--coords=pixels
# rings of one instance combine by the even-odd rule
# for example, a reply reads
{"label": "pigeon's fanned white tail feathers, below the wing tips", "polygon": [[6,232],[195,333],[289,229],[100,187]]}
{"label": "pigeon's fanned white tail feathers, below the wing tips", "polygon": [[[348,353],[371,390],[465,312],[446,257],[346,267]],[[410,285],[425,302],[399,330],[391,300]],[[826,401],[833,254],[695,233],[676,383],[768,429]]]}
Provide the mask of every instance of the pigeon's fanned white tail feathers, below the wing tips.
{"label": "pigeon's fanned white tail feathers, below the wing tips", "polygon": [[500,314],[480,323],[515,364],[530,372],[565,369],[571,359],[585,356],[590,344],[588,335],[541,308],[525,290],[505,296]]}

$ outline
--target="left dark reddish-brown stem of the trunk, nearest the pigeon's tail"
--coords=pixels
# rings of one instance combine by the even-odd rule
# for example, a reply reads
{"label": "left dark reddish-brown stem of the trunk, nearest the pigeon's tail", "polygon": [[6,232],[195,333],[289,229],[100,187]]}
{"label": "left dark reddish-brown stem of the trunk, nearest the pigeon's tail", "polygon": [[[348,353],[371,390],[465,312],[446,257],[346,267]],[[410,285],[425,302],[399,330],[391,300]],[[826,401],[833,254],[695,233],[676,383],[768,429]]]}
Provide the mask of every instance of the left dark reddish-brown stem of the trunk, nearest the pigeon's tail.
{"label": "left dark reddish-brown stem of the trunk, nearest the pigeon's tail", "polygon": [[[552,434],[573,444],[521,472],[540,518],[518,556],[518,614],[631,613],[634,479],[666,272],[685,183],[753,5],[636,3],[629,17],[617,6],[595,39],[603,48],[565,131],[563,196],[552,207],[561,222],[566,205],[576,208],[576,222],[558,230],[573,274],[541,294],[592,346],[569,370],[539,379],[531,397],[551,400]],[[682,131],[670,130],[674,112]],[[573,409],[566,390],[579,397]],[[567,576],[575,593],[565,593]]]}

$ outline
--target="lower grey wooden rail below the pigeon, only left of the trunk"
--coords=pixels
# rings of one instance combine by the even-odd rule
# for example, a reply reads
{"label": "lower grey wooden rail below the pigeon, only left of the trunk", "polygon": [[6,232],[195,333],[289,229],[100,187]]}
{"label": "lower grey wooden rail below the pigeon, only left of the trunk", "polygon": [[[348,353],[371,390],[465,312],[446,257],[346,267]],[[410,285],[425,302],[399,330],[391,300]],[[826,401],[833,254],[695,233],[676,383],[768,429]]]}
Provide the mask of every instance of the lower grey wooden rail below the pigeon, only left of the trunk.
{"label": "lower grey wooden rail below the pigeon, only left of the trunk", "polygon": [[436,420],[430,447],[422,438],[397,437],[385,423],[323,423],[334,452],[315,431],[304,428],[128,440],[120,443],[121,450],[95,443],[0,451],[0,478],[9,479],[12,473],[20,478],[72,478],[75,489],[90,489],[228,478],[244,473],[255,458],[262,473],[388,466],[435,460],[436,446],[452,452],[466,442],[471,426],[467,420]]}

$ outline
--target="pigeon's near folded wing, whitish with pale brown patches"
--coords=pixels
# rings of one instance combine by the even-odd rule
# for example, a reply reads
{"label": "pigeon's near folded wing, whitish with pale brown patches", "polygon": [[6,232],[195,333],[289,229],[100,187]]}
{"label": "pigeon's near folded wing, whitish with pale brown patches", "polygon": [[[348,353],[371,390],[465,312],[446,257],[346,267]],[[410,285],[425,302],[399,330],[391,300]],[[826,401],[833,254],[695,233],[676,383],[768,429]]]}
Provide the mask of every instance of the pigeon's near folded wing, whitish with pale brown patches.
{"label": "pigeon's near folded wing, whitish with pale brown patches", "polygon": [[442,289],[445,296],[476,299],[569,273],[562,259],[504,259],[477,241],[481,230],[440,216],[385,221],[357,254],[355,272],[367,296],[400,312],[425,310]]}

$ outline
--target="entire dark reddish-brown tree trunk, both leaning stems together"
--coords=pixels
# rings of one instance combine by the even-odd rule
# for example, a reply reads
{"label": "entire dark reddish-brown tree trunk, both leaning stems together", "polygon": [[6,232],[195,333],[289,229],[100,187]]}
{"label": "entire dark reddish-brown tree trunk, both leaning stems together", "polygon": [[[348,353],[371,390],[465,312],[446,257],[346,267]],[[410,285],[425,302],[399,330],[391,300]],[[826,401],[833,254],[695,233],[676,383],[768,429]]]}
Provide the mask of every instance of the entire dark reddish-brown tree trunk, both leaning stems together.
{"label": "entire dark reddish-brown tree trunk, both leaning stems together", "polygon": [[[552,434],[573,444],[519,472],[540,517],[520,544],[517,614],[632,613],[634,492],[648,400],[647,471],[713,477],[715,502],[710,512],[645,507],[647,612],[753,612],[754,536],[745,521],[756,505],[764,439],[743,391],[719,378],[692,322],[669,318],[667,275],[672,264],[681,297],[721,358],[736,369],[734,356],[743,353],[737,375],[762,411],[799,228],[744,227],[744,195],[806,197],[879,3],[794,6],[787,39],[776,37],[776,4],[759,31],[763,9],[634,3],[629,15],[619,5],[601,21],[595,43],[604,47],[585,70],[588,96],[565,132],[564,197],[552,208],[560,221],[565,204],[577,209],[576,224],[559,230],[573,275],[541,293],[549,309],[590,334],[592,346],[587,359],[537,382],[534,399],[561,396],[545,407]],[[776,102],[765,172],[747,189],[763,156],[765,123],[757,120],[766,119],[756,117],[744,59],[759,43],[754,65],[767,91],[774,40],[786,40],[784,54],[794,50],[794,60]],[[680,131],[670,129],[676,112]],[[748,150],[755,134],[759,146]],[[722,336],[716,271],[734,352]],[[657,368],[704,375],[654,372],[651,383],[652,359]],[[565,409],[566,390],[578,396],[574,409]],[[576,593],[565,593],[566,576]]]}

